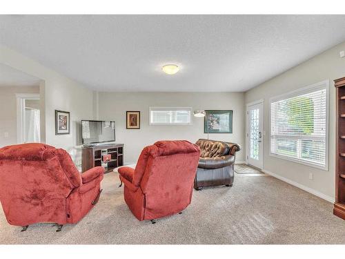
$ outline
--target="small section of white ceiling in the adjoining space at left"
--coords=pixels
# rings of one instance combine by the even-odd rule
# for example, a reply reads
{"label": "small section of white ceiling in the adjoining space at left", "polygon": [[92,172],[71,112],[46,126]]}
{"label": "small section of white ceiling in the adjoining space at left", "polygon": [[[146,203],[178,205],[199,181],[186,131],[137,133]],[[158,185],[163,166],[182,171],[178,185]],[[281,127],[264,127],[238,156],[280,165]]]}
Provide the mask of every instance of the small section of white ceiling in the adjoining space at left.
{"label": "small section of white ceiling in the adjoining space at left", "polygon": [[39,86],[40,79],[17,69],[0,64],[1,86]]}

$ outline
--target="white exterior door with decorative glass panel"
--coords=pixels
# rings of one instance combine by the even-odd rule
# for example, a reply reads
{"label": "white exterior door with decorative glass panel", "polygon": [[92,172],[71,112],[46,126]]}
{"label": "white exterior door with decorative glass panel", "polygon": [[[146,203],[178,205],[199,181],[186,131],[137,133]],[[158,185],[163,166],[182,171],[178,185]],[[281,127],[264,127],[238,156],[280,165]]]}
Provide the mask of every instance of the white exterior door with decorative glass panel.
{"label": "white exterior door with decorative glass panel", "polygon": [[247,162],[259,169],[263,167],[264,103],[247,106]]}

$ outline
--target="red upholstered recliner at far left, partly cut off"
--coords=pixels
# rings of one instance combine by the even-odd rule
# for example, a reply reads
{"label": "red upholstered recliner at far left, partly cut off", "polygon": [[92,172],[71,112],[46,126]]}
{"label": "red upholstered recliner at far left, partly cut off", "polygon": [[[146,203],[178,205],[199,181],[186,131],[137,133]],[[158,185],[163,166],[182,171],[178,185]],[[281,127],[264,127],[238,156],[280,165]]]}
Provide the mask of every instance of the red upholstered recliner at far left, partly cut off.
{"label": "red upholstered recliner at far left, partly cut off", "polygon": [[97,203],[104,169],[80,174],[63,149],[40,143],[0,148],[0,200],[8,223],[77,223]]}

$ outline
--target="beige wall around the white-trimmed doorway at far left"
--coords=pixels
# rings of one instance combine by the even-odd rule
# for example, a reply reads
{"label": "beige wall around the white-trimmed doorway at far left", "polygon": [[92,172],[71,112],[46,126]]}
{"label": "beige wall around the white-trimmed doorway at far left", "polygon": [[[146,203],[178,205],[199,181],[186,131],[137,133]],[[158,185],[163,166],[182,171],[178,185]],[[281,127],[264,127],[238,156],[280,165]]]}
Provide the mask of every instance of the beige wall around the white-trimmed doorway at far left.
{"label": "beige wall around the white-trimmed doorway at far left", "polygon": [[16,93],[39,93],[39,86],[0,86],[0,147],[17,144]]}

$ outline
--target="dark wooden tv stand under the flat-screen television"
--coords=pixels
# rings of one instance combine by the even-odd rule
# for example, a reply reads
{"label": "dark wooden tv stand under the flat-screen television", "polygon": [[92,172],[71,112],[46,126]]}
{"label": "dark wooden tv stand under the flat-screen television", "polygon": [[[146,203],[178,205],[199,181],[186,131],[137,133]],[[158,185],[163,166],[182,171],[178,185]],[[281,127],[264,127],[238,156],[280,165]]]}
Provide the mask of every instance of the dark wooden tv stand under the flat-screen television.
{"label": "dark wooden tv stand under the flat-screen television", "polygon": [[[111,160],[103,162],[102,155],[111,155]],[[124,144],[103,143],[95,146],[85,146],[81,150],[81,170],[88,171],[95,166],[103,166],[106,173],[124,165]]]}

